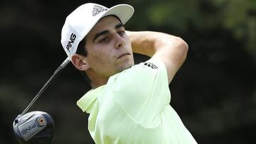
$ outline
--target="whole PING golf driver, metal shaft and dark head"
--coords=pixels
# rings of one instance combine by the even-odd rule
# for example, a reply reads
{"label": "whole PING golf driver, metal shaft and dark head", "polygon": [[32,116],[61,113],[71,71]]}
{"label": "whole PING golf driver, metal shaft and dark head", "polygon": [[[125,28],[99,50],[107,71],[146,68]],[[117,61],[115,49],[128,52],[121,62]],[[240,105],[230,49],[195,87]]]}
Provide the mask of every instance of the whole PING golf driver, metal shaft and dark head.
{"label": "whole PING golf driver, metal shaft and dark head", "polygon": [[50,143],[53,138],[54,122],[53,118],[46,112],[43,111],[31,111],[26,113],[28,109],[34,104],[46,88],[53,82],[53,79],[62,72],[65,66],[70,62],[69,58],[66,58],[64,62],[58,67],[53,75],[48,79],[46,84],[40,89],[38,94],[33,98],[30,104],[19,114],[13,123],[14,134],[18,139],[19,143],[38,143],[45,144]]}

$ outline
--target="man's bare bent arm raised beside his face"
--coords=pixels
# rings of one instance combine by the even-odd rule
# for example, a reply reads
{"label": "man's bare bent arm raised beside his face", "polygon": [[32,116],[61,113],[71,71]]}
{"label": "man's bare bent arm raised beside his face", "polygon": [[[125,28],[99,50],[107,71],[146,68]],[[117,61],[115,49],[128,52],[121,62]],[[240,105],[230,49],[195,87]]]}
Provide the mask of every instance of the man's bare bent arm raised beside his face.
{"label": "man's bare bent arm raised beside his face", "polygon": [[159,59],[166,66],[169,84],[186,60],[188,45],[174,35],[151,31],[126,31],[135,53]]}

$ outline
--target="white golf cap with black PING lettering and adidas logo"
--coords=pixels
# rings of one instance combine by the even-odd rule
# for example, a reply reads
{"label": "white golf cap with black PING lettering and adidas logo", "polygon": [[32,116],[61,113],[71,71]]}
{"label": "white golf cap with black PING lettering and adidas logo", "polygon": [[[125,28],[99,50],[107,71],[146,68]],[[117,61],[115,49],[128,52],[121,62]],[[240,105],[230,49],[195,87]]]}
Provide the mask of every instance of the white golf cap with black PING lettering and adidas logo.
{"label": "white golf cap with black PING lettering and adidas logo", "polygon": [[134,9],[127,4],[119,4],[107,9],[100,4],[87,3],[79,6],[65,19],[61,31],[61,44],[69,59],[78,49],[78,44],[104,16],[114,15],[124,24],[132,17]]}

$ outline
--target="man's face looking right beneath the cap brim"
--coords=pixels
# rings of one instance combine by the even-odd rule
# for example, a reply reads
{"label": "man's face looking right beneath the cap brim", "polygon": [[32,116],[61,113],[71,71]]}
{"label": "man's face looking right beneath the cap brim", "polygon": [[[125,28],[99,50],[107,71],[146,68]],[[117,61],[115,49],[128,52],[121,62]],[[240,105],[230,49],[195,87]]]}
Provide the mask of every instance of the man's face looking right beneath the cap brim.
{"label": "man's face looking right beneath the cap brim", "polygon": [[85,40],[87,64],[100,77],[110,77],[134,65],[131,42],[115,16],[100,19]]}

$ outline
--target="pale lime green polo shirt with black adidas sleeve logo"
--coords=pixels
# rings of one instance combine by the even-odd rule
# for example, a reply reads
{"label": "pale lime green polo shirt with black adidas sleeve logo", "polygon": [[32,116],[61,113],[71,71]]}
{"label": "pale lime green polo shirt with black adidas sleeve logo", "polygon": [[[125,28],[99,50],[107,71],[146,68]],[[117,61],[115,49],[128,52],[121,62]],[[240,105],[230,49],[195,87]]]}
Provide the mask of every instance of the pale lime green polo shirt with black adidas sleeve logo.
{"label": "pale lime green polo shirt with black adidas sleeve logo", "polygon": [[77,102],[97,144],[196,143],[170,106],[164,63],[150,59],[113,75]]}

